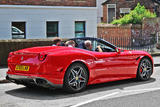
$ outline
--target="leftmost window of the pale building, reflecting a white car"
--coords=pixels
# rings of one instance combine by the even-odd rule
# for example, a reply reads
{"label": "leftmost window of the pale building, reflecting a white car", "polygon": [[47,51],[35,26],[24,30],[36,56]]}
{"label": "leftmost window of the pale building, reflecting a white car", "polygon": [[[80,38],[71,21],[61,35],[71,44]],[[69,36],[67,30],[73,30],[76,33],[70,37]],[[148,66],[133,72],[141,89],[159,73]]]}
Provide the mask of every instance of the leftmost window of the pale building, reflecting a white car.
{"label": "leftmost window of the pale building, reflecting a white car", "polygon": [[12,22],[11,26],[12,39],[26,38],[25,25],[26,25],[25,22]]}

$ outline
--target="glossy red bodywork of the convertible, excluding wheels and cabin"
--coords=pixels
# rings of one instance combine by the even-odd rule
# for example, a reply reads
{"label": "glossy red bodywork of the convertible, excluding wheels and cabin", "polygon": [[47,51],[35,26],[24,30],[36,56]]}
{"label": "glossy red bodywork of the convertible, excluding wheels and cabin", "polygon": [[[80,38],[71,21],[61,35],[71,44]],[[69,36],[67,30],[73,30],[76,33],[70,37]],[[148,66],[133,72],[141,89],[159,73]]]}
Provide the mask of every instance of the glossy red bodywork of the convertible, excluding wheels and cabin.
{"label": "glossy red bodywork of the convertible, excluding wheels and cabin", "polygon": [[[77,62],[88,70],[88,85],[136,78],[139,63],[144,57],[153,65],[152,57],[144,51],[119,49],[115,52],[95,52],[65,46],[33,47],[10,53],[7,79],[17,84],[33,80],[30,82],[44,87],[62,87],[67,69]],[[16,66],[24,70],[16,70]]]}

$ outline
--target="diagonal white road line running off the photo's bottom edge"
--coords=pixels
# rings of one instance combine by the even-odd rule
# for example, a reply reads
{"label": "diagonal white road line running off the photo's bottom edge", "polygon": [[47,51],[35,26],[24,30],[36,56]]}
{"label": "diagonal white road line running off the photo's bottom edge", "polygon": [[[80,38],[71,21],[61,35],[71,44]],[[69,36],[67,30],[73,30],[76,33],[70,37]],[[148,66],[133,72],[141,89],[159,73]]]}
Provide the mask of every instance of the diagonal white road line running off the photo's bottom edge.
{"label": "diagonal white road line running off the photo's bottom edge", "polygon": [[98,100],[104,99],[104,98],[106,98],[106,97],[110,97],[110,96],[119,94],[119,93],[120,93],[120,92],[114,92],[114,93],[107,94],[107,95],[104,95],[104,96],[101,96],[101,97],[97,97],[97,98],[95,98],[95,99],[91,99],[91,100],[88,100],[88,101],[85,101],[85,102],[82,102],[82,103],[78,103],[78,104],[73,105],[73,106],[70,106],[70,107],[79,107],[79,106],[82,106],[82,105],[85,105],[85,104],[88,104],[88,103],[91,103],[91,102],[94,102],[94,101],[98,101]]}

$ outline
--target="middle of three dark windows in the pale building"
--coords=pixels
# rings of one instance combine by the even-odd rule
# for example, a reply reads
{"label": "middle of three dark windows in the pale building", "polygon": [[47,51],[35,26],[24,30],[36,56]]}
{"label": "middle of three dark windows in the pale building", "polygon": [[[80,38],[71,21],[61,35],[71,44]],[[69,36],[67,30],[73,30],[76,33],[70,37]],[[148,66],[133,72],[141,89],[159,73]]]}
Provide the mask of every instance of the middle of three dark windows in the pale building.
{"label": "middle of three dark windows in the pale building", "polygon": [[58,22],[47,22],[47,37],[58,37]]}

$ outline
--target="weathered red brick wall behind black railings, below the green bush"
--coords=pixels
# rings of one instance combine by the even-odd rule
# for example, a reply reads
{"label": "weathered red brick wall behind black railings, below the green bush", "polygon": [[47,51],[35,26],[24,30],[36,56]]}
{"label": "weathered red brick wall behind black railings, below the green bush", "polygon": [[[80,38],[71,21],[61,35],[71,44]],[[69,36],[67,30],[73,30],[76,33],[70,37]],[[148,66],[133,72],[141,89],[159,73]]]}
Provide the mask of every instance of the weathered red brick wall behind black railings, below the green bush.
{"label": "weathered red brick wall behind black railings, below the green bush", "polygon": [[111,39],[125,39],[124,41],[113,43],[114,45],[118,46],[122,44],[121,42],[124,42],[125,46],[145,46],[155,42],[153,40],[156,38],[158,32],[160,32],[160,18],[145,18],[142,25],[130,24],[119,26],[99,24],[97,30],[97,35],[99,38],[103,38],[111,43]]}

